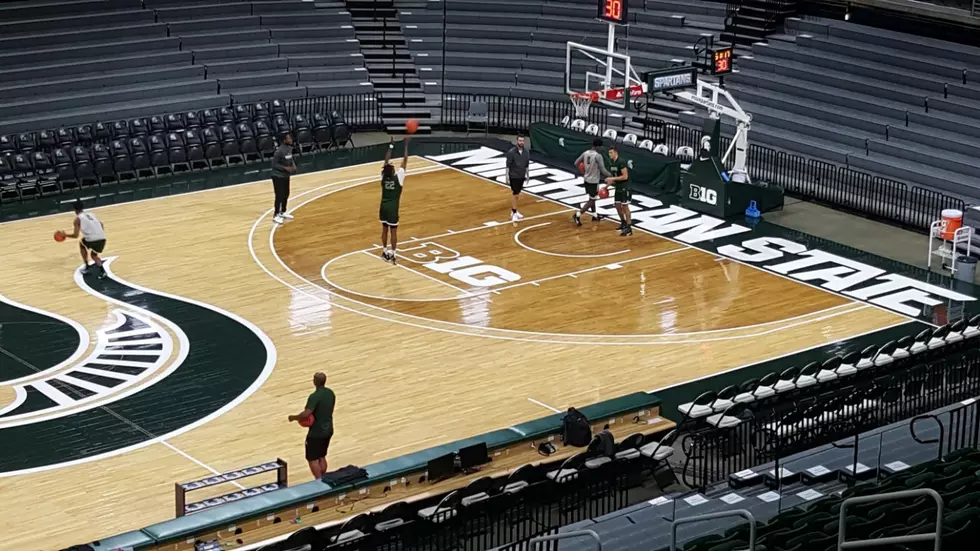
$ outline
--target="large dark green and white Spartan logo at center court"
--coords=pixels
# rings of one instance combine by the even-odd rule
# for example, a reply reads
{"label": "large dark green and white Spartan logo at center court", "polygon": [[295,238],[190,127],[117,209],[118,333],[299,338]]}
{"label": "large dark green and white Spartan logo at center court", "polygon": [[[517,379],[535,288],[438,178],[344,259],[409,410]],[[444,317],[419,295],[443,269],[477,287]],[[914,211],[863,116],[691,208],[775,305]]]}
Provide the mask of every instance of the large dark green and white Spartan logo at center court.
{"label": "large dark green and white Spartan logo at center court", "polygon": [[[80,324],[0,296],[0,346],[8,352],[0,369],[0,477],[166,440],[228,411],[271,373],[276,351],[257,327],[124,281],[110,265],[103,280],[75,273],[79,292],[115,305],[94,345]],[[49,342],[37,346],[28,334]]]}

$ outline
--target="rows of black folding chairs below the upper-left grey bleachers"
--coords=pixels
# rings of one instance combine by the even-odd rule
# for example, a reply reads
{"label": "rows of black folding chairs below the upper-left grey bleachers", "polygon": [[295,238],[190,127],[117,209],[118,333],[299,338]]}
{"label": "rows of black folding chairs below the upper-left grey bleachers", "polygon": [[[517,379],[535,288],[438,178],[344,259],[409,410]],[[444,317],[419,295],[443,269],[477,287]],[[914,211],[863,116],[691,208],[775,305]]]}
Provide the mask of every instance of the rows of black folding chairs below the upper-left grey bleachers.
{"label": "rows of black folding chairs below the upper-left grey bleachers", "polygon": [[299,154],[350,142],[342,114],[288,106],[257,101],[0,136],[0,203],[261,161],[286,134]]}

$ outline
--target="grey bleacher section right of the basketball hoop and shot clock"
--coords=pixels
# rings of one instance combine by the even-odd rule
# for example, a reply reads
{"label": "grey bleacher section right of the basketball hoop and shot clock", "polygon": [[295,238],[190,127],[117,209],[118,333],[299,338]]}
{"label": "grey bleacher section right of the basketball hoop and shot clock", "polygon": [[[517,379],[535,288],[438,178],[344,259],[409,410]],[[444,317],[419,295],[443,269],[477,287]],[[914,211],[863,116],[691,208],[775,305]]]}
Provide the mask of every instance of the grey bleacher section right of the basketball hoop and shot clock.
{"label": "grey bleacher section right of the basketball hoop and shot clock", "polygon": [[726,78],[753,142],[980,198],[980,49],[843,21],[786,27]]}

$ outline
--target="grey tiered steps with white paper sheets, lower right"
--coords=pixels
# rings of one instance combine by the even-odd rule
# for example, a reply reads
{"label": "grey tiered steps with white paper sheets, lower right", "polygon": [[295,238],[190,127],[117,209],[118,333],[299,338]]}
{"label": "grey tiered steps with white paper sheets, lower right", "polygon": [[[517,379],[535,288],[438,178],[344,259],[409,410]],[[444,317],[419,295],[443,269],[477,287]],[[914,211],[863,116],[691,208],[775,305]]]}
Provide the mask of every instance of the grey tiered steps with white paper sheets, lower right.
{"label": "grey tiered steps with white paper sheets, lower right", "polygon": [[[959,404],[942,408],[933,412],[942,418],[949,410],[960,407]],[[972,419],[972,417],[971,417]],[[821,446],[813,450],[795,454],[780,461],[779,469],[782,482],[777,482],[775,465],[772,463],[758,465],[740,473],[733,473],[729,482],[715,484],[704,492],[675,492],[654,498],[610,513],[608,515],[563,526],[559,532],[576,530],[592,530],[599,535],[603,549],[614,551],[639,551],[667,549],[670,543],[671,522],[674,519],[746,509],[755,517],[758,535],[766,533],[766,527],[775,528],[787,524],[787,520],[796,522],[809,511],[831,508],[840,502],[841,496],[850,497],[869,493],[867,484],[874,484],[881,479],[880,484],[894,489],[896,480],[903,473],[919,473],[923,470],[936,469],[938,448],[931,441],[940,434],[939,426],[935,423],[920,423],[916,427],[916,437],[925,444],[918,443],[909,429],[909,421],[895,423],[886,427],[862,433],[859,436],[857,449],[857,471],[855,477],[851,471],[855,463],[855,449],[843,447],[853,445],[854,439],[836,442],[835,445]],[[841,446],[841,447],[835,447]],[[951,456],[969,454],[970,450],[954,452]],[[973,450],[976,457],[973,461],[980,462],[980,451]],[[980,463],[976,469],[980,469]],[[807,473],[806,480],[801,474]],[[767,477],[768,475],[768,477]],[[972,475],[972,472],[971,472]],[[973,476],[976,479],[976,476]],[[980,480],[980,479],[977,479]],[[857,485],[864,483],[865,485]],[[976,480],[974,480],[976,483]],[[905,482],[900,485],[904,488]],[[980,485],[977,486],[980,490]],[[976,505],[980,505],[980,494],[977,494]],[[839,506],[838,506],[839,507]],[[933,519],[935,513],[933,512]],[[830,521],[821,516],[813,522],[821,520],[821,527]],[[837,519],[834,517],[835,523]],[[768,523],[768,524],[767,524]],[[790,523],[791,524],[791,523]],[[741,525],[741,527],[740,527]],[[746,529],[743,520],[732,517],[701,523],[685,524],[678,529],[678,549],[707,551],[724,534],[742,533]],[[806,531],[803,531],[805,533]],[[775,549],[785,551],[824,551],[836,549],[836,528],[833,537],[823,541],[814,539],[812,547],[782,544]],[[802,533],[801,533],[802,535]],[[792,537],[786,537],[788,541]],[[707,545],[708,542],[711,545]],[[561,551],[587,551],[594,548],[588,539],[568,539],[560,542]],[[732,549],[741,547],[732,547]],[[723,547],[723,549],[729,549]],[[766,547],[770,549],[770,547]]]}

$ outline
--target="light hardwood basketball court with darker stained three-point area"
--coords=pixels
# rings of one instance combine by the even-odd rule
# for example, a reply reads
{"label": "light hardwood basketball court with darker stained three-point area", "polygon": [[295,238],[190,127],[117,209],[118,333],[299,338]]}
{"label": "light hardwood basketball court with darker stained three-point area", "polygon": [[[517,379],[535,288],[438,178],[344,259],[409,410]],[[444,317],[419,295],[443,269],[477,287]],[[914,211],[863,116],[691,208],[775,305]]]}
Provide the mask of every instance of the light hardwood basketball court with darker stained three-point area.
{"label": "light hardwood basketball court with darker stained three-point area", "polygon": [[175,482],[276,457],[308,480],[286,417],[319,370],[338,396],[337,468],[910,321],[682,240],[577,227],[570,193],[526,194],[512,223],[502,172],[420,157],[391,266],[380,166],[295,177],[281,227],[268,181],[96,209],[103,281],[51,240],[71,214],[0,225],[17,244],[3,334],[47,336],[0,341],[0,493],[7,522],[35,527],[7,544],[163,521]]}

